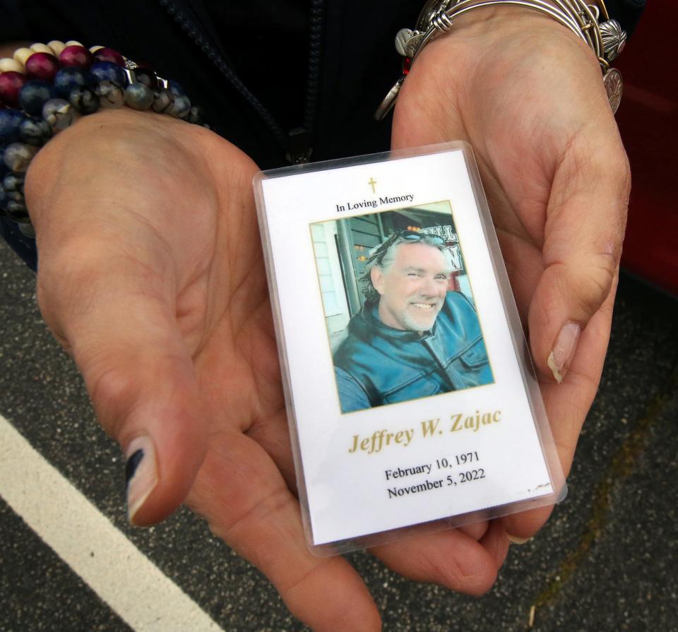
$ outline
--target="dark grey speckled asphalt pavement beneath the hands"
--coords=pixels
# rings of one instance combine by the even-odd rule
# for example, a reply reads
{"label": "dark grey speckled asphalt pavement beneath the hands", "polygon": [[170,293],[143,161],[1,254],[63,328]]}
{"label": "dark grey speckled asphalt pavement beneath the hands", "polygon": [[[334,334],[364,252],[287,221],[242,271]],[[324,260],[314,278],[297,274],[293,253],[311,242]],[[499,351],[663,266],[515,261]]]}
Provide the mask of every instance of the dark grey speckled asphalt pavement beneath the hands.
{"label": "dark grey speckled asphalt pavement beneath the hands", "polygon": [[[81,378],[42,322],[35,276],[5,244],[0,415],[216,626],[304,629],[266,578],[189,511],[150,529],[126,524],[119,448],[97,426]],[[677,453],[678,302],[624,276],[569,495],[537,537],[511,547],[494,588],[475,599],[404,580],[368,554],[349,559],[385,631],[678,631]],[[1,498],[0,534],[0,631],[130,629]],[[88,537],[77,544],[93,555]],[[126,568],[113,570],[135,586]]]}

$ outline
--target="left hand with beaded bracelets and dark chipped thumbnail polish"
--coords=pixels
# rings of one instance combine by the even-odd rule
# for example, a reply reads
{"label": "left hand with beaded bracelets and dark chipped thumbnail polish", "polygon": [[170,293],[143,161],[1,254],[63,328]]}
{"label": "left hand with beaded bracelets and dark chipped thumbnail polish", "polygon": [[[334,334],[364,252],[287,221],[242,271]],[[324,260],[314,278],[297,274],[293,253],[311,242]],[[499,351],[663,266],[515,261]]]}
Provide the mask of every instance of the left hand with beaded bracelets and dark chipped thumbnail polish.
{"label": "left hand with beaded bracelets and dark chipped thumbnail polish", "polygon": [[[28,172],[40,309],[129,458],[133,523],[186,501],[309,626],[378,630],[347,561],[304,543],[256,171],[184,121],[128,109],[81,119]],[[485,523],[375,552],[404,576],[479,595],[506,548],[501,525]]]}

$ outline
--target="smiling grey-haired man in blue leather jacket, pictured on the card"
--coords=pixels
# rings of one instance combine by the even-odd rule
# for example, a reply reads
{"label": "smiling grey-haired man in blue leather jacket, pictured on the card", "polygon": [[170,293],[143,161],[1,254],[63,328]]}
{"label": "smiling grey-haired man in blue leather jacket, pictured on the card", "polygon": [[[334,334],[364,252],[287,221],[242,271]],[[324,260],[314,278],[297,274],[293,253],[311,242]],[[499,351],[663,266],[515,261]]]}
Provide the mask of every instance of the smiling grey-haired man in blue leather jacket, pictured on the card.
{"label": "smiling grey-haired man in blue leather jacket, pictured on the card", "polygon": [[448,291],[451,270],[432,234],[396,232],[371,251],[366,300],[334,354],[342,412],[494,381],[474,307]]}

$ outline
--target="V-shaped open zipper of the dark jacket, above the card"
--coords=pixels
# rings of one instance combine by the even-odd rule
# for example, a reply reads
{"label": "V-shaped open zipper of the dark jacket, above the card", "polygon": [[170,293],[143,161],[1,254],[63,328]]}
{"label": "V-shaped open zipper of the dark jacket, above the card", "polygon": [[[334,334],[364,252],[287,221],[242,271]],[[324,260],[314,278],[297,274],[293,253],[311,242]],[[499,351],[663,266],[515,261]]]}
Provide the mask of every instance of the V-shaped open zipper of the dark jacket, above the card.
{"label": "V-shaped open zipper of the dark jacket, above the card", "polygon": [[304,124],[302,127],[291,129],[288,133],[278,124],[273,114],[246,88],[242,80],[228,65],[222,54],[210,42],[202,26],[191,16],[189,11],[177,6],[179,3],[171,0],[160,0],[160,6],[165,8],[169,16],[182,28],[188,37],[208,56],[220,73],[229,81],[233,88],[243,97],[261,118],[275,140],[287,150],[287,160],[293,165],[309,162],[311,153],[311,138],[314,133],[316,106],[320,85],[320,50],[323,26],[323,0],[311,0],[310,29],[309,29],[309,65],[307,72],[306,96],[304,99]]}

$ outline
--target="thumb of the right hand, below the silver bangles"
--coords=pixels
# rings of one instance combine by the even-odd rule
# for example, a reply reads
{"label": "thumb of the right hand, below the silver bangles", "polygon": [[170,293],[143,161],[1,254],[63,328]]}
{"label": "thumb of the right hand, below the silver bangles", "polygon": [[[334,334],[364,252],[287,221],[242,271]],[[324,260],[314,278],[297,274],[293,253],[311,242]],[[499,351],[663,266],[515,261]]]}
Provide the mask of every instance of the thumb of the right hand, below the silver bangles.
{"label": "thumb of the right hand, below the silver bangles", "polygon": [[612,290],[631,176],[617,133],[589,138],[559,165],[549,198],[544,271],[530,309],[530,345],[543,374],[562,381],[579,334]]}

